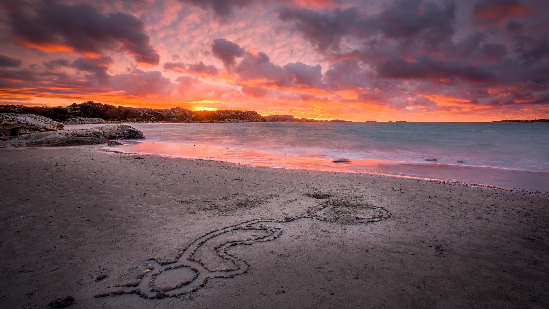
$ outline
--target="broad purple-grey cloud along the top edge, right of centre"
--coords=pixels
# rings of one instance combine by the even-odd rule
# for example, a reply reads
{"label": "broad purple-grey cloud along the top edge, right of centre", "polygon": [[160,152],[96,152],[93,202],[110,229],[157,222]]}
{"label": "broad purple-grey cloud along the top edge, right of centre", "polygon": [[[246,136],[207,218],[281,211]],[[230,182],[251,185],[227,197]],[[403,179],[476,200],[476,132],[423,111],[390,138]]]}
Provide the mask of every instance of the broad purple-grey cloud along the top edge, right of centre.
{"label": "broad purple-grey cloud along the top edge, right of centre", "polygon": [[[379,14],[363,15],[359,8],[322,10],[283,8],[279,18],[292,22],[292,30],[300,32],[320,51],[339,50],[345,36],[406,40],[407,45],[420,43],[424,49],[436,50],[451,42],[455,31],[456,4],[426,3],[420,0],[395,1]],[[410,42],[411,40],[417,42]]]}

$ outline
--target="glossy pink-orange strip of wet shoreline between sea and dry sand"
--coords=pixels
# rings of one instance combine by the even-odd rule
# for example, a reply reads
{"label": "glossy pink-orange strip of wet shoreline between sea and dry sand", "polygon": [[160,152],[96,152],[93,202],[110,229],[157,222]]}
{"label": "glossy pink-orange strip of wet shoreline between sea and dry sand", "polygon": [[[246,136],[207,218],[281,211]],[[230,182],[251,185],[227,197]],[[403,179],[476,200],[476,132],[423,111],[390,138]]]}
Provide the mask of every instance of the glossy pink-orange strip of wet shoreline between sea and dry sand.
{"label": "glossy pink-orange strip of wet shoreline between sea and dry sand", "polygon": [[166,157],[225,161],[251,167],[326,170],[331,172],[376,173],[413,178],[462,181],[497,187],[549,191],[549,173],[470,167],[438,163],[383,161],[374,159],[319,158],[290,156],[229,148],[166,144],[159,142],[126,142],[116,147],[98,147],[100,151],[120,151],[132,154],[156,154]]}

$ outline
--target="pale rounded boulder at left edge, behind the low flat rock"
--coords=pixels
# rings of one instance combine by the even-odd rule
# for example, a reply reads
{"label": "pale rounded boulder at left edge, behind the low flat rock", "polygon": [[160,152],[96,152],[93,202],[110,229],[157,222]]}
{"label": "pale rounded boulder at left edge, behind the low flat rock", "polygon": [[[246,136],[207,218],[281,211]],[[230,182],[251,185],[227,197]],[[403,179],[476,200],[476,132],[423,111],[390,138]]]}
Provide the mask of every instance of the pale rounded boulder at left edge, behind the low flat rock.
{"label": "pale rounded boulder at left edge, behind the low flat rock", "polygon": [[0,136],[57,131],[64,124],[35,114],[0,113]]}

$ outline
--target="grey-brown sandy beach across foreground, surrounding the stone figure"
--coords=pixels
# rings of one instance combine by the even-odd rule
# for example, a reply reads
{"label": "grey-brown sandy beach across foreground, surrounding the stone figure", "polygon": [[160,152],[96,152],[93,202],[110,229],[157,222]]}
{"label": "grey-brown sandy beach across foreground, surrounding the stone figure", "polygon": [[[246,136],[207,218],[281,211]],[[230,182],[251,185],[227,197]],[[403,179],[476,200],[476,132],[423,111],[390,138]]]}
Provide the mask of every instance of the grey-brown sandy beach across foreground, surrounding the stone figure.
{"label": "grey-brown sandy beach across foreground, surrounding the stone figure", "polygon": [[[47,307],[67,295],[70,308],[549,306],[546,193],[79,147],[0,148],[0,174],[3,308]],[[368,218],[378,207],[390,218],[319,220],[338,211]],[[287,222],[242,224],[255,219]],[[237,263],[216,255],[221,244]],[[202,264],[187,260],[189,251]],[[153,256],[172,263],[145,262]],[[154,269],[143,274],[147,263]],[[166,270],[180,264],[200,274],[173,288],[196,273]],[[204,280],[204,269],[215,277],[236,264],[229,278]],[[168,295],[201,288],[95,297],[155,295],[154,274]]]}

